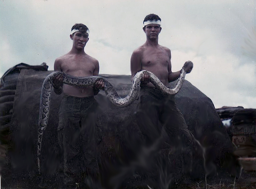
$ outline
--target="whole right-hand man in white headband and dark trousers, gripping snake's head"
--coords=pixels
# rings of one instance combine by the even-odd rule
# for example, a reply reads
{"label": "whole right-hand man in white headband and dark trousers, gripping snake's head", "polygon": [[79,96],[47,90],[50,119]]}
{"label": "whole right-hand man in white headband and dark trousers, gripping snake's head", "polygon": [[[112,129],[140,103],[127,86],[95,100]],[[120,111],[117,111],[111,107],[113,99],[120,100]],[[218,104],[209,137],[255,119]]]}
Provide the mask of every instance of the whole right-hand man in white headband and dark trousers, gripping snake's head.
{"label": "whole right-hand man in white headband and dark trousers, gripping snake's head", "polygon": [[[146,34],[146,42],[134,50],[131,55],[132,79],[137,72],[147,70],[155,74],[164,85],[168,86],[169,82],[177,80],[180,76],[180,70],[172,72],[171,50],[158,44],[158,35],[161,30],[159,16],[149,14],[145,17],[143,31]],[[186,73],[189,73],[192,67],[193,63],[187,61],[184,63],[183,69],[186,70]],[[166,132],[168,139],[163,141],[163,144],[168,143],[167,146],[172,149],[173,155],[181,152],[179,155],[182,155],[182,157],[176,156],[180,157],[181,160],[184,157],[191,156],[186,153],[191,152],[192,135],[188,131],[183,115],[177,109],[174,98],[174,95],[163,94],[155,88],[150,83],[149,75],[144,74],[141,83],[140,101],[132,120],[136,120],[136,124],[140,126],[144,143],[147,146],[153,146],[154,142],[163,137],[163,133]],[[159,144],[159,150],[163,144]],[[182,162],[179,163],[182,164]],[[187,168],[189,169],[189,162],[186,163],[188,163]],[[145,162],[145,164],[147,163]],[[168,168],[166,169],[168,170]],[[154,171],[152,170],[152,172]],[[154,187],[152,186],[152,188]]]}

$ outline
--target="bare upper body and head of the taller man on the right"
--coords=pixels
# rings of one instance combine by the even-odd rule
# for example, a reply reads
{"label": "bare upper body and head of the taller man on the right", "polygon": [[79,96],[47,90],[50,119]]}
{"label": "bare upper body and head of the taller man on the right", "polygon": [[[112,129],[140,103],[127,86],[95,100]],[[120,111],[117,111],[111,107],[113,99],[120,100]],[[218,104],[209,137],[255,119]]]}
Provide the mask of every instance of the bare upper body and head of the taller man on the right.
{"label": "bare upper body and head of the taller man on the right", "polygon": [[[152,19],[152,20],[151,20]],[[158,35],[160,34],[161,19],[155,14],[149,14],[144,19],[143,31],[146,34],[146,42],[136,49],[131,55],[131,75],[132,78],[141,70],[148,70],[154,73],[164,85],[177,80],[180,77],[180,71],[172,72],[171,50],[158,44]],[[183,69],[190,73],[193,63],[187,61]],[[142,78],[143,83],[149,82],[149,75],[145,74]],[[148,86],[153,86],[148,83]]]}

